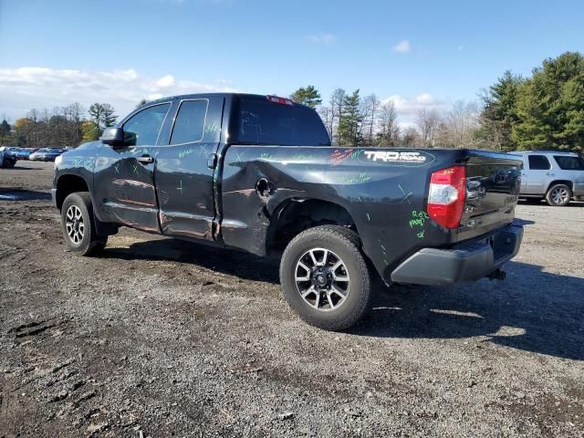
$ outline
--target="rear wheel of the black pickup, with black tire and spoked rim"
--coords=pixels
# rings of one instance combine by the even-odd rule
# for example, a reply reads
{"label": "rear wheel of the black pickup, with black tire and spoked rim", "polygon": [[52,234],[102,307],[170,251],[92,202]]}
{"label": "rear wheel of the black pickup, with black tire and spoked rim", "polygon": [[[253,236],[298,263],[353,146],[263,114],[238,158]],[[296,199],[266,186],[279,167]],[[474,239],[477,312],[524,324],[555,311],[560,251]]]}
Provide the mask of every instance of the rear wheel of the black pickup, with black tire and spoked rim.
{"label": "rear wheel of the black pickup, with black tire and spoked rim", "polygon": [[370,308],[370,268],[359,236],[324,225],[297,235],[280,264],[284,297],[300,318],[327,330],[349,328]]}

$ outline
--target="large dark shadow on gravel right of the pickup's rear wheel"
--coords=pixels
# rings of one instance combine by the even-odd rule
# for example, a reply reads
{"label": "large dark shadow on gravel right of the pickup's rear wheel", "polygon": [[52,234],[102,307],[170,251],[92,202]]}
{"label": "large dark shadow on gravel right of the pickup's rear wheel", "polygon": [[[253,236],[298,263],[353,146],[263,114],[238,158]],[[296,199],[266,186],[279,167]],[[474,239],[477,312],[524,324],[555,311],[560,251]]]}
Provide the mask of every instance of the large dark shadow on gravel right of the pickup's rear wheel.
{"label": "large dark shadow on gravel right of the pickup's rear wheel", "polygon": [[464,339],[558,358],[584,360],[584,278],[509,262],[503,282],[464,287],[394,285],[350,330],[380,338]]}

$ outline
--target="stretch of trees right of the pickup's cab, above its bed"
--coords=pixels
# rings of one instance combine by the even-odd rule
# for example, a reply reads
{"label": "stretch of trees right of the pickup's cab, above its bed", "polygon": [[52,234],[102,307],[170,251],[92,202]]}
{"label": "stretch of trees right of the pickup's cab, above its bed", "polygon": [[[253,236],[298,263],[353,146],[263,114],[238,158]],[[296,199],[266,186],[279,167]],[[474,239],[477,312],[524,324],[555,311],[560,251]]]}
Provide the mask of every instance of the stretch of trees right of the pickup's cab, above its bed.
{"label": "stretch of trees right of the pickup's cab, above its bed", "polygon": [[335,89],[322,104],[313,86],[291,96],[320,114],[338,145],[584,150],[584,57],[566,52],[534,68],[530,78],[507,70],[480,99],[449,110],[422,108],[415,123],[398,123],[395,104],[375,94]]}

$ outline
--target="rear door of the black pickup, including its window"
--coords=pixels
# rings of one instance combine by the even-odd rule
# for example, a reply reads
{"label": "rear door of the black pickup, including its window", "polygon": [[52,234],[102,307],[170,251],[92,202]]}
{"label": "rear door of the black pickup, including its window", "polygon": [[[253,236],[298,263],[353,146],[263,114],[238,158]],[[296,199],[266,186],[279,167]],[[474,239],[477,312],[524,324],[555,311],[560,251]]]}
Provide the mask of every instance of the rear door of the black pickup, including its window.
{"label": "rear door of the black pickup, including its window", "polygon": [[178,99],[178,110],[156,159],[162,234],[213,240],[214,153],[224,98]]}

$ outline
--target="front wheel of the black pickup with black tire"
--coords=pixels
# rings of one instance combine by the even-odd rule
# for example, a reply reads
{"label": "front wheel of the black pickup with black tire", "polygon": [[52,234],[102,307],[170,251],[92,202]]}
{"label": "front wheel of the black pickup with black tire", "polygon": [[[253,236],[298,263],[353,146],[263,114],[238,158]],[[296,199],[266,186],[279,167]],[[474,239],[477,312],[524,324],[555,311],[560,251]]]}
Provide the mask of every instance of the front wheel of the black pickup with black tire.
{"label": "front wheel of the black pickup with black tire", "polygon": [[[80,214],[77,223],[72,217]],[[75,228],[78,224],[78,228]],[[68,249],[77,255],[95,255],[105,248],[107,235],[98,235],[93,216],[93,205],[88,192],[71,193],[61,207],[61,229]],[[73,235],[70,235],[73,231]]]}

